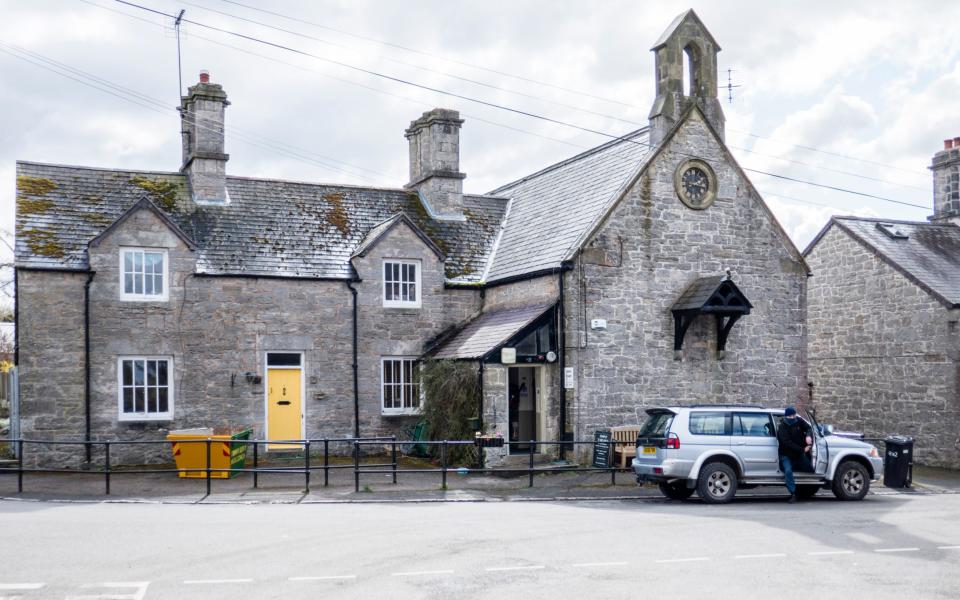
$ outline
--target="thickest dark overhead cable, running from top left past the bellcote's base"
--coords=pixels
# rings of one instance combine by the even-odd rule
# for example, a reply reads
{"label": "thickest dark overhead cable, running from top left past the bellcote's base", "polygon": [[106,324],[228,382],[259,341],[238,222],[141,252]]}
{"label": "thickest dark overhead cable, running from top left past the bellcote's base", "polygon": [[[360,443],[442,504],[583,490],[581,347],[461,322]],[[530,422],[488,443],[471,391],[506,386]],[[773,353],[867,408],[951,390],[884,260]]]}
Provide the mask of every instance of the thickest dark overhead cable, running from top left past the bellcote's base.
{"label": "thickest dark overhead cable, running from top left past the bellcote's base", "polygon": [[[150,13],[154,13],[154,14],[158,14],[158,15],[163,15],[163,16],[168,17],[168,18],[175,18],[175,15],[171,15],[171,14],[169,14],[169,13],[166,13],[166,12],[163,12],[163,11],[160,11],[160,10],[157,10],[157,9],[154,9],[154,8],[150,8],[150,7],[147,7],[147,6],[143,6],[143,5],[141,5],[141,4],[137,4],[137,3],[134,3],[134,2],[129,2],[128,0],[114,0],[114,1],[117,2],[117,3],[119,3],[119,4],[124,4],[124,5],[127,5],[127,6],[131,6],[131,7],[134,7],[134,8],[138,8],[138,9],[141,9],[141,10],[144,10],[144,11],[147,11],[147,12],[150,12]],[[256,36],[247,35],[247,34],[244,34],[244,33],[237,32],[237,31],[231,31],[231,30],[229,30],[229,29],[225,29],[225,28],[222,28],[222,27],[216,27],[216,26],[214,26],[214,25],[209,25],[209,24],[206,24],[206,23],[202,23],[202,22],[194,21],[194,20],[190,20],[190,19],[183,19],[183,22],[185,22],[185,23],[191,23],[191,24],[196,25],[196,26],[198,26],[198,27],[202,27],[202,28],[209,29],[209,30],[212,30],[212,31],[217,31],[217,32],[219,32],[219,33],[223,33],[223,34],[226,34],[226,35],[230,35],[230,36],[233,36],[233,37],[237,37],[237,38],[240,38],[240,39],[244,39],[244,40],[247,40],[247,41],[251,41],[251,42],[254,42],[254,43],[257,43],[257,44],[262,44],[262,45],[269,46],[269,47],[272,47],[272,48],[277,48],[277,49],[280,49],[280,50],[284,50],[284,51],[287,51],[287,52],[291,52],[291,53],[293,53],[293,54],[297,54],[297,55],[300,55],[300,56],[306,56],[306,57],[313,58],[313,59],[316,59],[316,60],[320,60],[320,61],[323,61],[323,62],[327,62],[327,63],[330,63],[330,64],[335,64],[335,65],[344,67],[344,68],[346,68],[346,69],[350,69],[350,70],[353,70],[353,71],[365,73],[365,74],[367,74],[367,75],[371,75],[371,76],[373,76],[373,77],[378,77],[378,78],[381,78],[381,79],[384,79],[384,80],[387,80],[387,81],[392,81],[392,82],[399,83],[399,84],[402,84],[402,85],[407,85],[407,86],[415,87],[415,88],[418,88],[418,89],[426,90],[426,91],[429,91],[429,92],[434,92],[434,93],[437,93],[437,94],[442,94],[442,95],[449,96],[449,97],[452,97],[452,98],[457,98],[457,99],[459,99],[459,100],[464,100],[464,101],[466,101],[466,102],[472,102],[472,103],[475,103],[475,104],[479,104],[479,105],[481,105],[481,106],[486,106],[486,107],[489,107],[489,108],[494,108],[494,109],[497,109],[497,110],[502,110],[502,111],[510,112],[510,113],[513,113],[513,114],[517,114],[517,115],[529,117],[529,118],[532,118],[532,119],[537,119],[537,120],[544,121],[544,122],[547,122],[547,123],[552,123],[552,124],[555,124],[555,125],[561,125],[561,126],[563,126],[563,127],[568,127],[568,128],[571,128],[571,129],[577,129],[577,130],[580,130],[580,131],[583,131],[583,132],[586,132],[586,133],[592,133],[592,134],[594,134],[594,135],[599,135],[599,136],[608,138],[608,139],[610,139],[610,140],[616,140],[616,141],[621,141],[621,142],[638,144],[638,145],[643,145],[643,146],[648,146],[648,147],[650,147],[650,148],[653,148],[653,146],[652,146],[651,144],[649,144],[649,143],[640,142],[640,141],[637,141],[637,140],[634,140],[634,139],[630,139],[629,137],[626,137],[626,136],[607,133],[607,132],[605,132],[605,131],[601,131],[601,130],[598,130],[598,129],[594,129],[594,128],[592,128],[592,127],[585,127],[585,126],[583,126],[583,125],[578,125],[578,124],[576,124],[576,123],[571,123],[571,122],[569,122],[569,121],[564,121],[564,120],[562,120],[562,119],[556,119],[556,118],[553,118],[553,117],[549,117],[549,116],[545,116],[545,115],[540,115],[540,114],[533,113],[533,112],[530,112],[530,111],[521,110],[521,109],[518,109],[518,108],[513,108],[513,107],[510,107],[510,106],[503,105],[503,104],[498,104],[498,103],[496,103],[496,102],[490,102],[490,101],[488,101],[488,100],[482,100],[482,99],[479,99],[479,98],[473,98],[473,97],[467,96],[467,95],[465,95],[465,94],[459,94],[459,93],[457,93],[457,92],[451,92],[451,91],[448,91],[448,90],[436,88],[436,87],[429,86],[429,85],[425,85],[425,84],[422,84],[422,83],[417,83],[417,82],[414,82],[414,81],[410,81],[410,80],[407,80],[407,79],[403,79],[403,78],[401,78],[401,77],[395,77],[395,76],[393,76],[393,75],[388,75],[388,74],[386,74],[386,73],[380,73],[380,72],[374,71],[374,70],[372,70],[372,69],[366,69],[366,68],[364,68],[364,67],[358,67],[358,66],[356,66],[356,65],[351,65],[351,64],[345,63],[345,62],[343,62],[343,61],[334,60],[334,59],[326,58],[326,57],[323,57],[323,56],[318,56],[318,55],[316,55],[316,54],[313,54],[313,53],[311,53],[311,52],[307,52],[307,51],[305,51],[305,50],[300,50],[300,49],[298,49],[298,48],[293,48],[293,47],[287,46],[287,45],[285,45],[285,44],[280,44],[280,43],[277,43],[277,42],[272,42],[272,41],[265,40],[265,39],[263,39],[263,38],[259,38],[259,37],[256,37]],[[679,151],[676,151],[676,150],[673,150],[673,152],[675,152],[675,153],[677,153],[677,154],[679,154],[679,155],[693,156],[693,155],[691,155],[691,154],[679,152]],[[874,198],[874,199],[876,199],[876,200],[881,200],[881,201],[884,201],[884,202],[891,202],[891,203],[893,203],[893,204],[899,204],[899,205],[903,205],[903,206],[913,206],[913,207],[916,207],[916,208],[926,208],[926,207],[921,206],[921,205],[919,205],[919,204],[911,204],[911,203],[909,203],[909,202],[903,202],[903,201],[901,201],[901,200],[894,200],[894,199],[892,199],[892,198],[886,198],[886,197],[884,197],[884,196],[879,196],[879,195],[876,195],[876,194],[869,194],[869,193],[866,193],[866,192],[859,192],[859,191],[856,191],[856,190],[851,190],[851,189],[843,188],[843,187],[840,187],[840,186],[832,186],[832,185],[817,183],[817,182],[813,182],[813,181],[808,181],[808,180],[805,180],[805,179],[799,179],[799,178],[796,178],[796,177],[789,177],[789,176],[786,176],[786,175],[778,175],[778,174],[776,174],[776,173],[769,173],[769,172],[767,172],[767,171],[761,171],[761,170],[757,170],[757,169],[751,169],[751,168],[748,168],[748,167],[743,167],[743,170],[744,170],[744,171],[748,171],[748,172],[752,172],[752,173],[759,173],[759,174],[761,174],[761,175],[767,175],[767,176],[770,176],[770,177],[776,177],[776,178],[783,179],[783,180],[792,181],[792,182],[794,182],[794,183],[800,183],[800,184],[810,185],[810,186],[819,187],[819,188],[823,188],[823,189],[830,189],[830,190],[833,190],[833,191],[843,192],[843,193],[848,193],[848,194],[853,194],[853,195],[857,195],[857,196]]]}

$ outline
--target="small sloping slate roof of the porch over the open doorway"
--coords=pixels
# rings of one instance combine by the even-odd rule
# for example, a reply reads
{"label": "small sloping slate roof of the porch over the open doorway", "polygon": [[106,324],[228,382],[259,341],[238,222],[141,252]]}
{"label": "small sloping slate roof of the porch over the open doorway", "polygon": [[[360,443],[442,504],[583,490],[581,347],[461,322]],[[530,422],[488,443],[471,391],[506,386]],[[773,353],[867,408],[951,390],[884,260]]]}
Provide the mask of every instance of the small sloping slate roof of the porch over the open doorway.
{"label": "small sloping slate roof of the porch over the open doorway", "polygon": [[553,304],[537,304],[484,313],[430,354],[432,358],[482,358],[551,308]]}

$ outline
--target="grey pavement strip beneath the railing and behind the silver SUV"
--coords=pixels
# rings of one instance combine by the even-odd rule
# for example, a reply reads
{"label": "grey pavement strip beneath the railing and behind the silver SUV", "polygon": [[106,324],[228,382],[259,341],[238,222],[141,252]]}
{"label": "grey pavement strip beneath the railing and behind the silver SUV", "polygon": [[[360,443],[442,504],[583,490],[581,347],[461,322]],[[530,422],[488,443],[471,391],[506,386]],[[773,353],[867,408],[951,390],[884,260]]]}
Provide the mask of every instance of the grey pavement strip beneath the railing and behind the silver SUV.
{"label": "grey pavement strip beneath the railing and behind the silver SUV", "polygon": [[[408,468],[423,468],[410,464]],[[108,502],[163,504],[313,504],[384,502],[502,502],[544,500],[642,500],[659,499],[654,485],[638,486],[629,471],[545,472],[530,485],[526,474],[475,473],[450,470],[446,489],[440,473],[363,473],[360,491],[355,491],[352,464],[332,466],[324,485],[323,468],[311,472],[309,491],[303,473],[261,473],[257,487],[253,475],[212,479],[207,494],[205,479],[180,478],[176,473],[125,473],[110,476],[110,494],[102,473],[25,473],[23,492],[17,491],[16,473],[0,474],[0,500],[47,502]],[[913,485],[890,489],[874,483],[871,494],[960,494],[960,471],[915,467]],[[744,490],[738,497],[785,497],[779,487]],[[832,497],[829,491],[821,496]]]}

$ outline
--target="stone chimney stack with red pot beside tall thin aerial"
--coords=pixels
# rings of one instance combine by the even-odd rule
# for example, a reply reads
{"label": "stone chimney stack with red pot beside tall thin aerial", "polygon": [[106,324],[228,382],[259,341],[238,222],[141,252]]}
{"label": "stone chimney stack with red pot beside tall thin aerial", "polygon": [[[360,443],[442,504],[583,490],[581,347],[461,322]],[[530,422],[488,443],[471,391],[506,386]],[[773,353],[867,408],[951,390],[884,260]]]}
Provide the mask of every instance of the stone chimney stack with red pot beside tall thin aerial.
{"label": "stone chimney stack with red pot beside tall thin aerial", "polygon": [[200,82],[180,99],[183,164],[180,172],[190,182],[197,204],[227,204],[227,160],[224,153],[224,112],[230,103],[223,87],[210,83],[210,73],[200,71]]}

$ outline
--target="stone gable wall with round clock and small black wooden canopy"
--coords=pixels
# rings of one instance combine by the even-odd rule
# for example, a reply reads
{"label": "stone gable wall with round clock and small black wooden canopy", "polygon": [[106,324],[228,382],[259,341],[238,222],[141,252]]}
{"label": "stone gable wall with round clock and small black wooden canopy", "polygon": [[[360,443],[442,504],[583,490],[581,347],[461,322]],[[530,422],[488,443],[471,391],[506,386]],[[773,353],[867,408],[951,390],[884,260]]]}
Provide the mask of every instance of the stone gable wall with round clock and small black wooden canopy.
{"label": "stone gable wall with round clock and small black wooden canopy", "polygon": [[[709,163],[719,191],[692,210],[674,190],[690,156]],[[664,404],[802,404],[807,397],[806,270],[795,248],[731,159],[693,113],[612,211],[567,274],[568,366],[577,439],[637,425]],[[713,320],[701,316],[674,356],[670,308],[696,279],[722,275],[753,311],[718,358]],[[605,330],[590,328],[606,319]]]}

